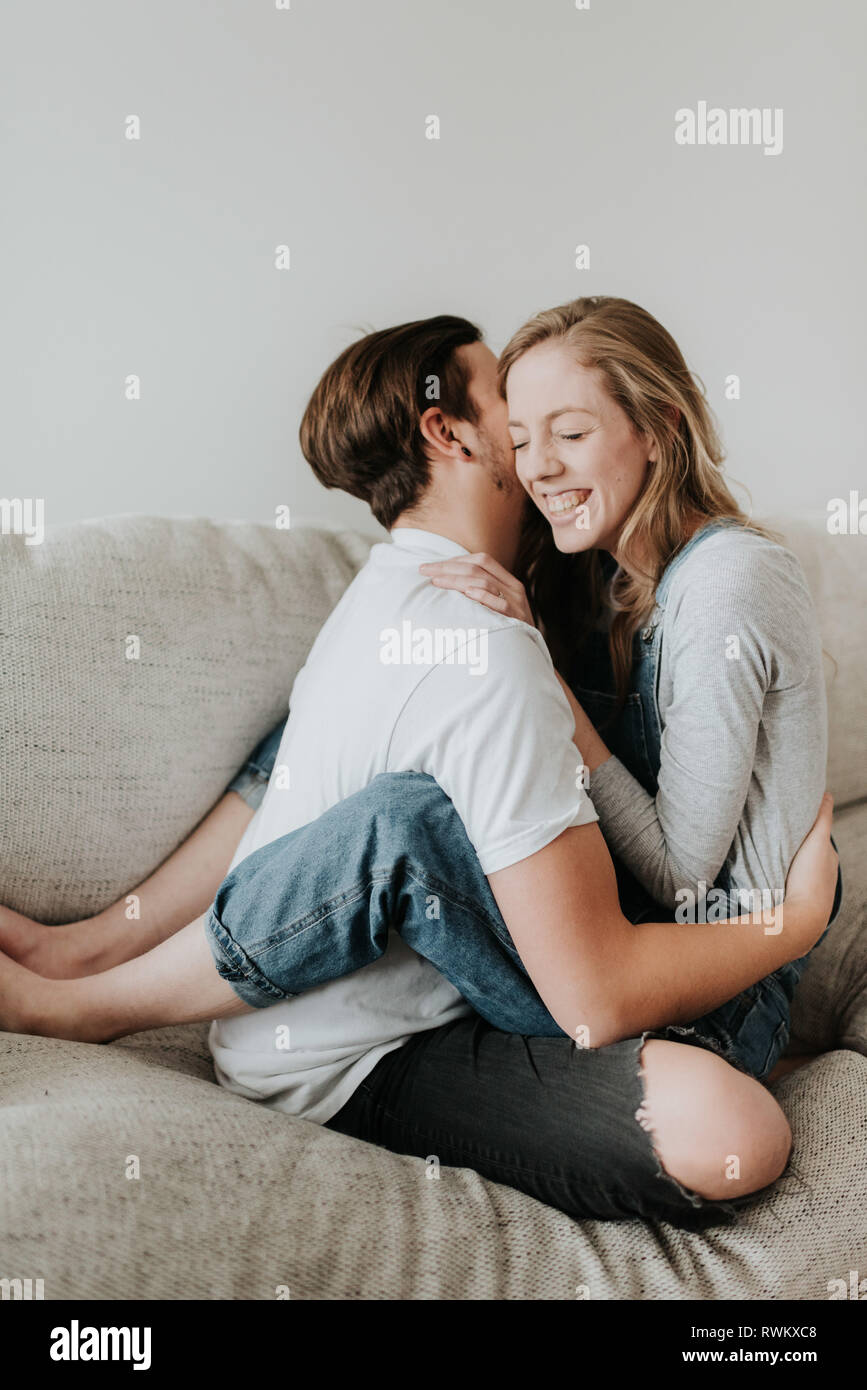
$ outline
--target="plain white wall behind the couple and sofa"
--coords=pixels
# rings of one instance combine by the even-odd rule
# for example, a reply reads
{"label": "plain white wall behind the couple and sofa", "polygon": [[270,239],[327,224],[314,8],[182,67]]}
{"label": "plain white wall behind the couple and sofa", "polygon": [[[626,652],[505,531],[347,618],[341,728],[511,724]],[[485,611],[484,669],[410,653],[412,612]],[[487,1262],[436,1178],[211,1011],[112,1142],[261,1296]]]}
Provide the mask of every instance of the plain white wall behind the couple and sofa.
{"label": "plain white wall behind the couple and sofa", "polygon": [[[757,510],[864,477],[861,0],[7,0],[4,28],[0,491],[49,524],[370,525],[297,448],[338,350],[442,311],[497,349],[579,293],[674,332]],[[678,146],[700,100],[782,107],[782,153]]]}

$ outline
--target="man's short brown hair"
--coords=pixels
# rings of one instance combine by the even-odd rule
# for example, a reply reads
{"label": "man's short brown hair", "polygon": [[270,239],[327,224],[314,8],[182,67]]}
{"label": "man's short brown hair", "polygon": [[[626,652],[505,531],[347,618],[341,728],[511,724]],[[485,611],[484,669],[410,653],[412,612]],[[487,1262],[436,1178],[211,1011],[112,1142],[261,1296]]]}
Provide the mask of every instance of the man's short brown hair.
{"label": "man's short brown hair", "polygon": [[392,527],[431,481],[421,416],[478,424],[470,374],[456,350],[481,341],[465,318],[439,314],[382,328],[331,364],[302,420],[302,452],[327,488],[340,488]]}

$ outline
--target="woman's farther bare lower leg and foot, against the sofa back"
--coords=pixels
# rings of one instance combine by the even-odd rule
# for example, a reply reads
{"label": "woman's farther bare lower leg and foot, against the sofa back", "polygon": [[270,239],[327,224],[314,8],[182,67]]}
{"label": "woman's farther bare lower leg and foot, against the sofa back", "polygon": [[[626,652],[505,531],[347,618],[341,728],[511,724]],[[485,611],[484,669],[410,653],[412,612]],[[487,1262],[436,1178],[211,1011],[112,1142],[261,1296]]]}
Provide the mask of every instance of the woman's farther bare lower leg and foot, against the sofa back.
{"label": "woman's farther bare lower leg and foot, against the sofa back", "polygon": [[226,792],[144,883],[83,922],[46,927],[0,908],[0,951],[49,980],[75,980],[133,960],[208,908],[251,819],[251,808]]}

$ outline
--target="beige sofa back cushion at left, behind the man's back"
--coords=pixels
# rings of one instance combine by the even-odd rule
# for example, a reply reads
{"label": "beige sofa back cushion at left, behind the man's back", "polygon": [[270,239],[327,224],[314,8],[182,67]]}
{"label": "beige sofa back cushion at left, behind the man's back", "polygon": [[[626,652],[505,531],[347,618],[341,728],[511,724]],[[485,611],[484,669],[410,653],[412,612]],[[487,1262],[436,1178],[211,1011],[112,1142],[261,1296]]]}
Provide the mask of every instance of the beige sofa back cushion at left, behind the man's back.
{"label": "beige sofa back cushion at left, behind the man's back", "polygon": [[285,717],[368,548],[160,517],[1,537],[4,905],[89,916],[186,840]]}

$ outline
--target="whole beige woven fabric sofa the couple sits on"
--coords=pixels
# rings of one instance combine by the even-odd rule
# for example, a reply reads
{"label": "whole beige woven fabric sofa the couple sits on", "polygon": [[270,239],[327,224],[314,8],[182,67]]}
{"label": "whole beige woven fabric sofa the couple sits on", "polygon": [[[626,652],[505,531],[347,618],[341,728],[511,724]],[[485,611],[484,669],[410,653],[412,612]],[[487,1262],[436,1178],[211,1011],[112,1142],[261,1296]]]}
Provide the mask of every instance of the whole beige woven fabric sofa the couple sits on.
{"label": "whole beige woven fabric sofa the couple sits on", "polygon": [[[793,1161],[738,1226],[575,1223],[470,1170],[431,1180],[221,1090],[204,1026],[0,1034],[0,1277],[46,1298],[824,1300],[866,1276],[866,542],[782,530],[836,660],[846,899],[796,1006],[796,1047],[825,1055],[778,1087]],[[154,869],[285,712],[367,546],[149,517],[0,537],[0,901],[76,920]]]}

